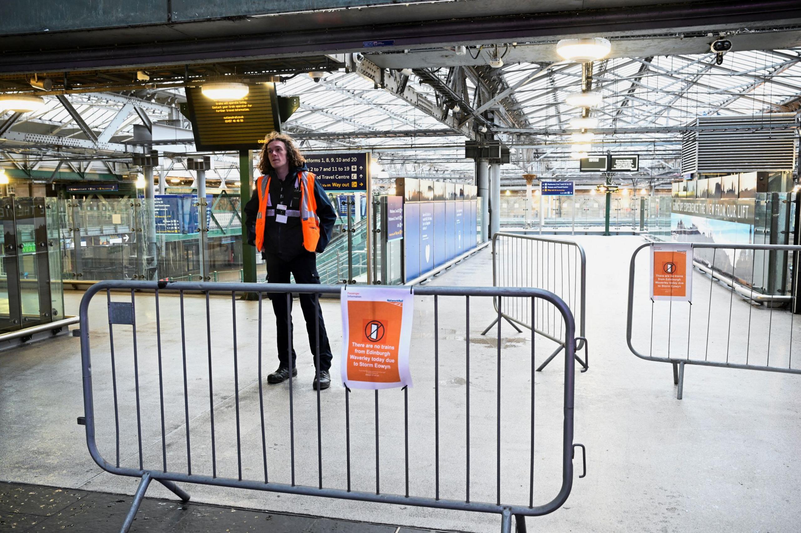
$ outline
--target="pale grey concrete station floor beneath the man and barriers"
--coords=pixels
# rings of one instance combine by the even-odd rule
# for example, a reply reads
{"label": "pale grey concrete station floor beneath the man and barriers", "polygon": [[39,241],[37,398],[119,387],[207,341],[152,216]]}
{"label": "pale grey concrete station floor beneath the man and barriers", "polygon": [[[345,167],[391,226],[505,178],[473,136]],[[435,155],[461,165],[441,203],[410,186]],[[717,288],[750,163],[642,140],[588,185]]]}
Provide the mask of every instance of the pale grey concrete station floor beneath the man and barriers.
{"label": "pale grey concrete station floor beneath the man and barriers", "polygon": [[[670,366],[637,359],[626,347],[626,289],[631,252],[642,238],[577,237],[586,248],[588,268],[587,337],[590,371],[576,378],[575,440],[586,444],[588,475],[574,479],[567,503],[551,515],[529,519],[541,531],[798,531],[801,523],[801,461],[799,409],[801,381],[797,375],[687,367],[684,399],[675,399]],[[643,255],[645,258],[646,256]],[[646,274],[645,262],[639,274]],[[489,250],[469,258],[437,277],[439,285],[490,285]],[[638,287],[645,285],[638,280]],[[697,287],[703,278],[697,275]],[[723,287],[714,286],[714,323],[727,314]],[[66,313],[77,312],[79,295],[66,294]],[[125,295],[113,295],[123,301]],[[130,300],[130,298],[128,298]],[[720,299],[720,303],[718,303]],[[706,321],[706,312],[693,311]],[[162,467],[158,359],[152,295],[137,295],[139,379],[142,402],[143,463]],[[326,487],[344,487],[344,391],[338,375],[339,304],[325,301],[324,315],[335,353],[334,384],[323,392],[323,475]],[[439,303],[440,493],[465,497],[465,303],[441,298]],[[92,365],[100,451],[116,460],[115,419],[111,394],[109,335],[105,298],[91,307]],[[187,384],[191,464],[195,473],[211,473],[211,428],[206,347],[205,301],[186,299]],[[735,299],[731,316],[734,344],[741,344],[747,304]],[[657,311],[659,312],[659,311]],[[678,311],[677,311],[678,312]],[[259,387],[257,379],[256,303],[236,303],[239,363],[239,414],[244,479],[263,479]],[[489,300],[471,299],[471,499],[494,502],[495,397],[497,344],[479,334],[493,318]],[[651,304],[635,300],[635,319],[650,317]],[[788,317],[780,311],[768,322],[765,310],[753,311],[751,346],[767,337]],[[300,313],[296,311],[296,315]],[[186,471],[182,351],[177,299],[161,299],[161,331],[167,467]],[[217,475],[236,477],[235,397],[231,335],[231,301],[211,299],[211,339],[214,375]],[[638,327],[642,326],[635,323]],[[794,323],[794,329],[798,324]],[[264,307],[264,370],[276,366],[272,310]],[[781,329],[781,328],[778,328]],[[789,329],[789,319],[783,328]],[[296,330],[299,377],[295,383],[296,483],[315,485],[316,395],[311,355],[304,328]],[[120,463],[136,467],[135,387],[131,328],[115,327],[120,415]],[[726,335],[712,329],[713,340]],[[647,343],[647,335],[635,339]],[[771,335],[778,335],[772,333]],[[409,391],[409,489],[413,495],[433,495],[433,310],[429,298],[416,300],[412,372]],[[658,335],[654,338],[659,340]],[[772,337],[771,337],[772,338]],[[801,332],[795,331],[796,339]],[[684,341],[686,343],[686,339]],[[503,327],[501,499],[528,503],[529,391],[531,335]],[[537,363],[554,344],[537,337]],[[729,342],[731,344],[731,342]],[[777,347],[778,346],[778,347]],[[771,354],[789,346],[775,340]],[[654,351],[654,355],[657,352]],[[774,357],[771,355],[771,358]],[[799,359],[801,362],[801,359]],[[536,375],[537,448],[535,503],[545,503],[561,483],[559,441],[562,429],[563,360],[557,358]],[[795,367],[795,364],[792,364]],[[72,489],[132,494],[136,480],[103,472],[88,455],[84,428],[78,339],[54,339],[0,355],[0,479]],[[351,395],[352,486],[375,490],[375,413],[372,392]],[[264,385],[265,434],[271,481],[290,479],[288,387]],[[403,395],[380,393],[380,490],[405,490]],[[580,460],[575,461],[580,468]],[[347,502],[276,495],[260,491],[187,486],[197,502],[288,511],[332,518],[398,523],[412,527],[460,531],[497,531],[496,515],[437,511],[418,507]],[[171,494],[155,484],[148,495]]]}

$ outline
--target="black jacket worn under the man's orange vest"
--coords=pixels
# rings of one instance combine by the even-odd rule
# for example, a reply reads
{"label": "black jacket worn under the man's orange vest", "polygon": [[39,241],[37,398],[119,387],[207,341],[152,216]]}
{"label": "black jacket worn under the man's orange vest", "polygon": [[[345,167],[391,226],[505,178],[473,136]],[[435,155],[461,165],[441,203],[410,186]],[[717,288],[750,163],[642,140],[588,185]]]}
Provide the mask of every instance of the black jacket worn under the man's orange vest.
{"label": "black jacket worn under the man's orange vest", "polygon": [[[273,206],[281,202],[288,204],[288,209],[300,210],[296,205],[300,196],[295,193],[295,177],[298,172],[308,170],[306,166],[291,169],[284,180],[276,178],[275,171],[271,171],[270,198]],[[336,212],[325,194],[320,183],[314,182],[314,196],[317,202],[317,217],[320,218],[320,240],[317,241],[317,252],[325,250],[336,222]],[[245,206],[245,225],[248,227],[248,244],[256,244],[256,215],[259,213],[259,192],[253,195]],[[305,250],[303,246],[303,228],[299,217],[289,217],[285,224],[276,222],[275,215],[268,216],[264,221],[264,253],[276,254],[284,261],[290,261]]]}

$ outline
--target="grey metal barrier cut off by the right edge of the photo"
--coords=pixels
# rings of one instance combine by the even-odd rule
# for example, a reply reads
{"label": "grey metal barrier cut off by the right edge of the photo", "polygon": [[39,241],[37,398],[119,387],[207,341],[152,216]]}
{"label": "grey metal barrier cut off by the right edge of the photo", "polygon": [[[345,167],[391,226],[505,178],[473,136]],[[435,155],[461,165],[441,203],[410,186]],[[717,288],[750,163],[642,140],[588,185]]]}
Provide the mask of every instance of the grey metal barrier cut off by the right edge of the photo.
{"label": "grey metal barrier cut off by the right edge of the photo", "polygon": [[[795,315],[775,309],[779,303],[795,303],[795,297],[759,292],[775,285],[771,281],[777,275],[775,269],[787,270],[786,254],[797,257],[801,246],[694,243],[698,272],[693,272],[692,303],[654,303],[649,298],[650,317],[638,315],[644,323],[634,327],[635,262],[640,250],[650,246],[639,246],[631,256],[626,342],[640,359],[673,365],[677,399],[683,395],[685,365],[801,374],[801,367],[792,366]],[[698,279],[702,275],[709,276],[709,283]],[[647,285],[641,287],[643,295],[650,294]],[[770,306],[759,306],[759,302]],[[650,329],[647,355],[634,347],[632,339],[634,331],[646,328]],[[660,351],[664,356],[654,355]]]}

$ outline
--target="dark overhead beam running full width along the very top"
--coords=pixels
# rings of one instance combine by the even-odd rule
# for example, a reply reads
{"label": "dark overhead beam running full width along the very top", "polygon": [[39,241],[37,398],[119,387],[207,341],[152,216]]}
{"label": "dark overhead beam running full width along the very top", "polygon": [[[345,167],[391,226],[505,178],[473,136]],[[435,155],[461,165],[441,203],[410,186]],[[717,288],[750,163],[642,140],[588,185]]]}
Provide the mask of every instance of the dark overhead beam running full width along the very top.
{"label": "dark overhead beam running full width along the very top", "polygon": [[[264,2],[262,2],[264,3]],[[117,66],[150,66],[211,62],[255,57],[292,57],[300,54],[346,53],[365,50],[365,42],[391,36],[386,47],[400,51],[423,47],[483,44],[487,42],[535,42],[562,35],[617,35],[638,33],[677,34],[703,30],[760,30],[766,26],[792,26],[801,20],[797,0],[728,0],[660,2],[630,6],[520,13],[520,2],[475,2],[471,16],[464,2],[429,2],[405,10],[403,18],[385,18],[391,8],[340,10],[319,13],[320,22],[308,26],[309,14],[281,14],[277,17],[231,18],[182,21],[175,24],[131,24],[85,29],[82,32],[53,31],[42,40],[42,32],[14,35],[16,46],[6,48],[3,73],[61,72]],[[471,2],[473,3],[473,2]],[[582,6],[583,3],[571,2]],[[592,2],[594,5],[594,2]],[[509,6],[515,6],[510,10]],[[540,7],[542,10],[543,8]],[[554,9],[545,6],[544,9]],[[302,23],[306,22],[305,25]],[[62,35],[59,35],[62,34]],[[76,34],[82,38],[76,38]],[[119,36],[122,35],[122,38]],[[195,37],[201,35],[203,37]],[[205,37],[205,36],[208,37]],[[117,38],[114,38],[117,37]]]}

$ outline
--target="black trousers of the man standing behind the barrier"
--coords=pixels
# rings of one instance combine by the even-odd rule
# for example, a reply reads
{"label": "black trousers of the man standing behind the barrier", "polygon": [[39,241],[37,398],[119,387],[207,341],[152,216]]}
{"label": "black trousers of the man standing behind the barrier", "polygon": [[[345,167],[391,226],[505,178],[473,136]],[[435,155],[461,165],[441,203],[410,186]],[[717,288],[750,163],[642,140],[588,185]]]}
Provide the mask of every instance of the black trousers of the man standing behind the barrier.
{"label": "black trousers of the man standing behind the barrier", "polygon": [[[289,283],[289,275],[295,276],[296,283],[320,283],[317,274],[316,254],[303,251],[290,261],[278,258],[276,254],[266,254],[267,283]],[[300,309],[306,319],[308,345],[312,348],[312,359],[317,366],[317,339],[320,338],[320,371],[331,368],[331,346],[328,344],[328,334],[325,332],[323,311],[317,306],[318,294],[301,294]],[[281,293],[271,293],[272,311],[276,313],[276,337],[278,339],[278,360],[281,367],[289,367],[289,343],[292,339],[292,298]],[[289,331],[288,331],[289,330]],[[295,367],[297,355],[295,343],[292,342],[292,367]]]}

